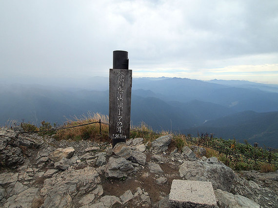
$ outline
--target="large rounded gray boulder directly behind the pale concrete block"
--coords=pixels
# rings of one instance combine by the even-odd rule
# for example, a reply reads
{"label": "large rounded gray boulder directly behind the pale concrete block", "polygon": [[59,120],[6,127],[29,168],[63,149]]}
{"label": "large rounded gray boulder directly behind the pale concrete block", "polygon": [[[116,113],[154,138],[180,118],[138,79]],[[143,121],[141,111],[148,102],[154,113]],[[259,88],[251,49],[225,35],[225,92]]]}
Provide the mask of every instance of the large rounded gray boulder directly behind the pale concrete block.
{"label": "large rounded gray boulder directly behind the pale concrete block", "polygon": [[181,177],[186,180],[210,181],[214,189],[230,191],[235,173],[223,163],[209,164],[202,160],[185,161],[179,168]]}

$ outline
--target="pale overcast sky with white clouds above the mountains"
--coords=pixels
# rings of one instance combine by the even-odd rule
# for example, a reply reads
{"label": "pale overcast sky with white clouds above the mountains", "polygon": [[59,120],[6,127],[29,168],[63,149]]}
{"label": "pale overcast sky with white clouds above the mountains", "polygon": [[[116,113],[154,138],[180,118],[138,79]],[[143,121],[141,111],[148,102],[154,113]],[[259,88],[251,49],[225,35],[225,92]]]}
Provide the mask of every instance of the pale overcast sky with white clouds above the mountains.
{"label": "pale overcast sky with white clouds above the mountains", "polygon": [[109,76],[278,84],[278,0],[0,0],[0,76]]}

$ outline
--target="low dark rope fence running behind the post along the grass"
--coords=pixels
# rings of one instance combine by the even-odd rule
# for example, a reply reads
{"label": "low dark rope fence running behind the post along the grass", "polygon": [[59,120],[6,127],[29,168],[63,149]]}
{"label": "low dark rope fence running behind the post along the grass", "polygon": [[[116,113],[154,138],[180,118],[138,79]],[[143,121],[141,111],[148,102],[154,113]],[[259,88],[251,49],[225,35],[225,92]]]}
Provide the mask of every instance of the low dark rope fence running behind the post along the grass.
{"label": "low dark rope fence running behind the post along the grass", "polygon": [[[80,127],[80,126],[86,126],[86,125],[91,125],[91,124],[95,124],[95,123],[99,123],[99,131],[101,134],[101,124],[103,125],[107,125],[109,126],[108,123],[102,122],[100,119],[99,121],[96,122],[91,122],[91,123],[87,123],[87,124],[81,124],[81,125],[77,125],[77,126],[71,126],[71,127],[63,127],[63,128],[57,128],[57,129],[51,129],[51,130],[40,130],[40,131],[32,131],[32,132],[20,132],[20,133],[38,133],[38,132],[53,132],[53,131],[58,131],[58,130],[63,130],[63,129],[70,129],[70,128],[76,128],[76,127]],[[162,135],[161,133],[157,133],[157,132],[147,132],[147,131],[142,131],[142,130],[137,130],[137,129],[130,129],[130,131],[133,132],[139,132],[139,133],[145,133],[145,134],[152,134],[152,135]],[[197,144],[199,146],[203,146],[215,151],[218,151],[219,153],[223,153],[226,155],[232,155],[235,156],[237,158],[243,158],[243,159],[247,159],[247,160],[254,160],[254,161],[258,161],[258,162],[268,162],[268,163],[272,163],[272,164],[276,164],[278,165],[278,161],[274,161],[274,160],[270,160],[270,159],[265,159],[263,157],[258,157],[256,156],[254,158],[254,156],[250,156],[248,154],[244,154],[244,153],[240,153],[240,152],[235,152],[235,151],[231,151],[231,150],[226,150],[217,146],[213,146],[213,145],[209,145],[209,144],[205,144],[205,143],[200,143],[198,141],[194,141],[190,138],[188,138],[187,136],[185,136],[185,140],[192,142],[194,144]]]}

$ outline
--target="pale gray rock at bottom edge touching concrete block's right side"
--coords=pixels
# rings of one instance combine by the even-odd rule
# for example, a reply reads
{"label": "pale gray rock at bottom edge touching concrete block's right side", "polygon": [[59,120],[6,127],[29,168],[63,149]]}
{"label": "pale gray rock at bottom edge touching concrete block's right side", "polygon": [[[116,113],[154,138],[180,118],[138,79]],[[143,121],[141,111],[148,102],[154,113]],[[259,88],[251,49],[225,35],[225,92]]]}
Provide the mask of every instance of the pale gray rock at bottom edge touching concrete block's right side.
{"label": "pale gray rock at bottom edge touching concrete block's right side", "polygon": [[252,200],[240,196],[234,195],[227,191],[223,191],[221,189],[217,189],[214,191],[216,200],[218,201],[219,206],[221,207],[229,207],[229,208],[259,208],[260,206],[253,202]]}

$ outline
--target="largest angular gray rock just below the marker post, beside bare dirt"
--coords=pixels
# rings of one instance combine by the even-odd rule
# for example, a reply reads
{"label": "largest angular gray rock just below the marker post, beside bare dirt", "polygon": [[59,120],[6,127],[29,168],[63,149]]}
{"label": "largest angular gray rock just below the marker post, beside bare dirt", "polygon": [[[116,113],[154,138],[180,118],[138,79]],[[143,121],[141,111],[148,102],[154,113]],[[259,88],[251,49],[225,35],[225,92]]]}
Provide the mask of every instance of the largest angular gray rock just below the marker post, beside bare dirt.
{"label": "largest angular gray rock just below the marker post, beside bare dirt", "polygon": [[130,161],[119,157],[110,157],[105,167],[105,177],[107,178],[122,178],[127,176],[134,170]]}

